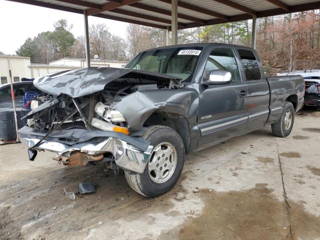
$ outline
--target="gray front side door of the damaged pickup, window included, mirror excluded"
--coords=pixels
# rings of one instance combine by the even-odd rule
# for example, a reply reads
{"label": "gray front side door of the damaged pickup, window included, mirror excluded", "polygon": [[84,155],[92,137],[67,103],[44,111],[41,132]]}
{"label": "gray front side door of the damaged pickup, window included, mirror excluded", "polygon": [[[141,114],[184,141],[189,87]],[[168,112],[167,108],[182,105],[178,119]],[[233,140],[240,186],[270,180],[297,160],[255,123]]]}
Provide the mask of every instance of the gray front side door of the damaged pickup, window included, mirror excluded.
{"label": "gray front side door of the damaged pickup, window included, mirror excluded", "polygon": [[202,79],[211,70],[231,73],[232,82],[220,85],[200,84],[198,128],[201,137],[198,149],[239,135],[246,130],[248,120],[247,87],[234,57],[233,48],[215,47],[210,52]]}

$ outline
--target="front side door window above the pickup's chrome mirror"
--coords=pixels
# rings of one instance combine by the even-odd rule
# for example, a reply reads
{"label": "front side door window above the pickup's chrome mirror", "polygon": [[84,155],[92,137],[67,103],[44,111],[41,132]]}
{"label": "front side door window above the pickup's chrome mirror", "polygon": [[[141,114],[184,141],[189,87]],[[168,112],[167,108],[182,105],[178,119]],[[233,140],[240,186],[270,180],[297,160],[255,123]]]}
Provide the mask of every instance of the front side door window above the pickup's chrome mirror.
{"label": "front side door window above the pickup's chrome mirror", "polygon": [[205,74],[210,74],[212,70],[227,70],[232,75],[232,82],[239,82],[239,70],[235,57],[230,48],[214,48],[205,64]]}

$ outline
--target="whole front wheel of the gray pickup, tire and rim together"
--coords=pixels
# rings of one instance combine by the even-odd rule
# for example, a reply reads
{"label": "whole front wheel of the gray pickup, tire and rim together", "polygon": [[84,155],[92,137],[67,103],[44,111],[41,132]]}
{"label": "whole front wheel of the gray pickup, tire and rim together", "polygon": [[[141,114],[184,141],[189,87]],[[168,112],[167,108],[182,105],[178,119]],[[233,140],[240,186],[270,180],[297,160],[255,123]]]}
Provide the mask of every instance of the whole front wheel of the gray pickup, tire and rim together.
{"label": "whole front wheel of the gray pickup, tire and rim together", "polygon": [[124,170],[130,187],[147,197],[169,191],[177,182],[184,163],[184,145],[170,127],[150,126],[142,136],[154,146],[143,173]]}

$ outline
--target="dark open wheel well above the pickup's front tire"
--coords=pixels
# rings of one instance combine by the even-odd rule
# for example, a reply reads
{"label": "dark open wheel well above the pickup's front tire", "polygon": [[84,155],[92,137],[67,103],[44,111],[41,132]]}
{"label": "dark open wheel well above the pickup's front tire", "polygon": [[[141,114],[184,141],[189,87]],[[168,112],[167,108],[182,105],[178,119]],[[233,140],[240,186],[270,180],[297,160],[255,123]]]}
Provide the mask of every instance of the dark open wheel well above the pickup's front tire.
{"label": "dark open wheel well above the pickup's front tire", "polygon": [[152,125],[168,126],[174,129],[182,138],[185,153],[190,150],[190,129],[187,119],[179,114],[154,111],[143,123],[144,127]]}

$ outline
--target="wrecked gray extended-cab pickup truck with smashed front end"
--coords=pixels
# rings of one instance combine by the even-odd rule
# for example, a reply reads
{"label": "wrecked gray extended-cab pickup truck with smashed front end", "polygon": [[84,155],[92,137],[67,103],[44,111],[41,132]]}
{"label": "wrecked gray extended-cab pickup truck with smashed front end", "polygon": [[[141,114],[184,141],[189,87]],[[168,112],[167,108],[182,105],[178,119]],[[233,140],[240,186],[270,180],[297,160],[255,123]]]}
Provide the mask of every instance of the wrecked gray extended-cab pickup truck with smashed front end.
{"label": "wrecked gray extended-cab pickup truck with smashed front end", "polygon": [[148,197],[176,183],[186,153],[265,125],[287,136],[304,95],[301,76],[266,77],[254,49],[217,43],[154,48],[124,68],[68,70],[33,83],[45,94],[19,129],[30,160],[42,150],[69,166],[101,160]]}

